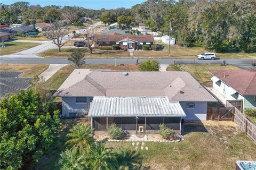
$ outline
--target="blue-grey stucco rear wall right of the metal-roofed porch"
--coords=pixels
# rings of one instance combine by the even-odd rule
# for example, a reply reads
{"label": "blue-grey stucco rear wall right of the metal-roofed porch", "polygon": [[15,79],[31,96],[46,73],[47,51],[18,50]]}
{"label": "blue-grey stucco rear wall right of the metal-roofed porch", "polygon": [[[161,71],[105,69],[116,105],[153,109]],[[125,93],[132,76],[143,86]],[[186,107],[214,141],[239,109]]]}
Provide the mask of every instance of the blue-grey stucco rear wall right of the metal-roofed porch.
{"label": "blue-grey stucco rear wall right of the metal-roofed porch", "polygon": [[195,102],[194,108],[188,108],[188,102],[191,101],[180,101],[180,105],[186,113],[186,117],[183,117],[183,119],[205,121],[207,114],[207,102]]}

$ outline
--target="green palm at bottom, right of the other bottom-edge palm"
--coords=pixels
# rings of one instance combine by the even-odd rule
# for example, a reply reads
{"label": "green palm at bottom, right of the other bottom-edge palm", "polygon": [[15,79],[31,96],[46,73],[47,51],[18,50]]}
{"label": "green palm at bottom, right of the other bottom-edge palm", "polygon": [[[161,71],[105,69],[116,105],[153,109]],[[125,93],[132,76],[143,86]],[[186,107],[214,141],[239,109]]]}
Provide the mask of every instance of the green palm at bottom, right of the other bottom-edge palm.
{"label": "green palm at bottom, right of the other bottom-edge palm", "polygon": [[94,142],[86,157],[86,165],[92,170],[118,169],[116,154],[102,142]]}

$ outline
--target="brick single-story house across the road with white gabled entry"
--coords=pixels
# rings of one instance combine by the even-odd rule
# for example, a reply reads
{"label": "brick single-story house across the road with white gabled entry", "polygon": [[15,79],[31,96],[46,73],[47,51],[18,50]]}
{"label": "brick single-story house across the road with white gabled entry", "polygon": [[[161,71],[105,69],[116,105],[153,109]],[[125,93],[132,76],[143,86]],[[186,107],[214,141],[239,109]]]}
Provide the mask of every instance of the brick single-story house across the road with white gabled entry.
{"label": "brick single-story house across the road with white gabled entry", "polygon": [[142,49],[142,45],[151,46],[154,43],[154,37],[148,35],[106,35],[98,34],[94,36],[97,46],[119,45],[121,49]]}

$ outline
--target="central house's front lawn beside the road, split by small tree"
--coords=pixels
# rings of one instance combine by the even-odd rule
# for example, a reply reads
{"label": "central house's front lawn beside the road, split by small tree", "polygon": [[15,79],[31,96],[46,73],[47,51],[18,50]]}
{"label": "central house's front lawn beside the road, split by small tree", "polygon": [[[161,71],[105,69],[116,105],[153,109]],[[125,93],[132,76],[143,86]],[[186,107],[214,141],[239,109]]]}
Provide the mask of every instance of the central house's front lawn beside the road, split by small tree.
{"label": "central house's front lawn beside the road, split by small tree", "polygon": [[[68,76],[73,72],[74,69],[77,69],[75,65],[67,65],[62,67],[59,71],[57,71],[53,76],[47,80],[47,84],[51,86],[52,90],[57,90],[60,85],[68,78]],[[114,64],[85,64],[83,69],[110,69],[110,70],[138,70],[138,65],[135,64],[124,64],[117,65]]]}

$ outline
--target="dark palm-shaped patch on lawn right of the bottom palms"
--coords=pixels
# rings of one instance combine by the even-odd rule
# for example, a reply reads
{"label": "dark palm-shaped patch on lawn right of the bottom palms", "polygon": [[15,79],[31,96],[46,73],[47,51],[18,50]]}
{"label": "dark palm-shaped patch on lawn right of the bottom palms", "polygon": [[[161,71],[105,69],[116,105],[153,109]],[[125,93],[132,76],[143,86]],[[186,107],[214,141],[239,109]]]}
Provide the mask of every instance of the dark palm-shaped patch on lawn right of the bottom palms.
{"label": "dark palm-shaped patch on lawn right of the bottom palms", "polygon": [[117,154],[117,162],[119,164],[119,169],[140,169],[141,167],[141,155],[135,150],[121,150]]}

